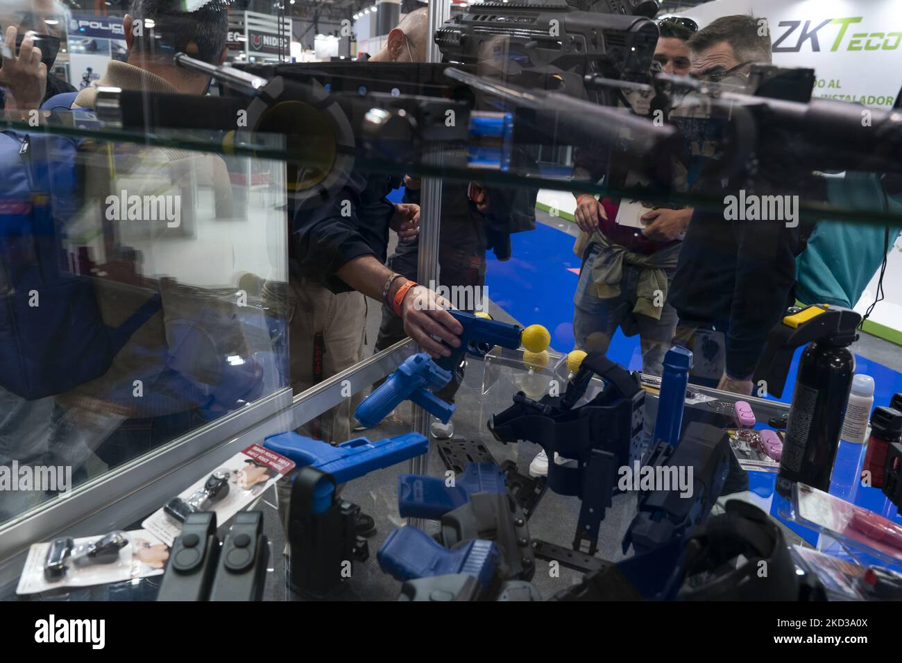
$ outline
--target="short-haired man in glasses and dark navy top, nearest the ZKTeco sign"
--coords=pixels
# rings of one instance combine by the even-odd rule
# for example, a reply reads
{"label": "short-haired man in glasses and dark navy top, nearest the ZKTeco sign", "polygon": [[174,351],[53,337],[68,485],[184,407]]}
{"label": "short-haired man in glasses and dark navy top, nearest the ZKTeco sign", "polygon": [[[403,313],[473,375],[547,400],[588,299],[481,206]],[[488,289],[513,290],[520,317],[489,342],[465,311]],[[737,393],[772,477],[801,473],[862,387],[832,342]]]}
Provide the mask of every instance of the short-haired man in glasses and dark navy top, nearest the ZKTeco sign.
{"label": "short-haired man in glasses and dark navy top, nearest the ZKTeco sign", "polygon": [[[767,23],[750,15],[723,16],[688,43],[692,75],[723,85],[744,86],[751,64],[771,60]],[[723,198],[740,188],[703,174],[693,190]],[[761,192],[766,191],[756,191]],[[798,229],[784,223],[730,221],[723,210],[695,211],[668,296],[679,315],[676,340],[695,353],[692,382],[751,393],[768,332],[786,310],[796,281],[798,244]]]}

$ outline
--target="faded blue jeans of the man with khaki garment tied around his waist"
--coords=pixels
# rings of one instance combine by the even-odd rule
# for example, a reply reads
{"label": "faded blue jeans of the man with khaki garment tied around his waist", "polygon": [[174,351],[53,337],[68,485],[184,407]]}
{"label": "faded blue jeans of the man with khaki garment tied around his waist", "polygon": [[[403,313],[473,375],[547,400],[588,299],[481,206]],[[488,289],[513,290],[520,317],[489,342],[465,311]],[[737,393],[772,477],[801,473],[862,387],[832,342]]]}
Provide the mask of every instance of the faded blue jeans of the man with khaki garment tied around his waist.
{"label": "faded blue jeans of the man with khaki garment tied around his waist", "polygon": [[[634,314],[636,304],[636,287],[639,284],[641,269],[623,262],[621,293],[611,299],[599,299],[589,286],[592,284],[592,266],[595,257],[607,251],[599,244],[589,247],[583,269],[579,272],[579,283],[576,285],[573,312],[573,333],[575,349],[593,352],[607,352],[617,327],[630,323],[624,331],[638,329],[642,347],[642,371],[651,375],[661,374],[661,362],[664,355],[673,345],[676,330],[676,309],[667,301],[663,302],[661,317],[656,320]],[[673,272],[667,273],[667,283],[673,280]],[[632,331],[631,333],[635,333]]]}

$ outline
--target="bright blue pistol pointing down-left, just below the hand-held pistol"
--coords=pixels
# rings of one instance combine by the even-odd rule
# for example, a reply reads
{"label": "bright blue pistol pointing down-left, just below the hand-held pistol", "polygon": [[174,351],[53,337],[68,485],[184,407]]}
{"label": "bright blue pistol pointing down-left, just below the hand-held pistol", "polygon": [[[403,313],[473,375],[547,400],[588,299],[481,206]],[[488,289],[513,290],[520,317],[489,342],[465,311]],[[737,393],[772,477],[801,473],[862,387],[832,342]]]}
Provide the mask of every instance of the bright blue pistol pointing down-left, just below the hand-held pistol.
{"label": "bright blue pistol pointing down-left, just below the hand-held pistol", "polygon": [[388,380],[367,396],[354,410],[354,417],[367,428],[373,428],[398,407],[400,401],[415,402],[423,410],[446,424],[455,406],[442,401],[431,391],[451,382],[451,372],[439,368],[425,352],[413,355],[391,373]]}

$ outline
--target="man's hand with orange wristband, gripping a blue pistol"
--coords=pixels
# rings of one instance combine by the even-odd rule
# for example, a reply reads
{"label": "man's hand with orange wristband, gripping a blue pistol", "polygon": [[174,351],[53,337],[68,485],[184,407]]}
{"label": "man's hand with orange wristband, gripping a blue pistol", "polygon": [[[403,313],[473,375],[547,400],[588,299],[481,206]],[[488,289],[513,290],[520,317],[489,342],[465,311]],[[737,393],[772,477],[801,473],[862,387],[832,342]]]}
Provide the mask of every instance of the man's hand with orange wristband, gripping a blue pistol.
{"label": "man's hand with orange wristband, gripping a blue pistol", "polygon": [[[403,281],[404,279],[395,280],[397,286],[393,285],[392,293],[397,292]],[[460,347],[457,335],[464,333],[464,327],[461,327],[460,323],[445,310],[446,308],[451,308],[447,299],[421,285],[408,290],[400,305],[404,331],[436,359],[451,355],[451,351],[432,336],[437,336],[454,347]]]}

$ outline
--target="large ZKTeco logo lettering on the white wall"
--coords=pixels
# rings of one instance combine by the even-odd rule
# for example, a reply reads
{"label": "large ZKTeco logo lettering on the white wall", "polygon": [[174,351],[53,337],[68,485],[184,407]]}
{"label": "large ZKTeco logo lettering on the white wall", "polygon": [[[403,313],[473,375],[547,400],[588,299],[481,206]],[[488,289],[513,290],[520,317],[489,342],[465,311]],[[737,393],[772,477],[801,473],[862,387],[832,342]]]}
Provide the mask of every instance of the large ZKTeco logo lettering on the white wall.
{"label": "large ZKTeco logo lettering on the white wall", "polygon": [[[773,30],[775,53],[811,51],[896,51],[902,45],[902,31],[862,30],[863,16],[810,20],[780,21]],[[816,25],[814,23],[817,23]],[[851,30],[850,30],[851,28]]]}

